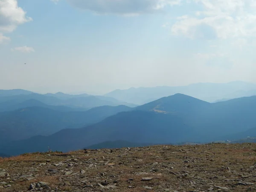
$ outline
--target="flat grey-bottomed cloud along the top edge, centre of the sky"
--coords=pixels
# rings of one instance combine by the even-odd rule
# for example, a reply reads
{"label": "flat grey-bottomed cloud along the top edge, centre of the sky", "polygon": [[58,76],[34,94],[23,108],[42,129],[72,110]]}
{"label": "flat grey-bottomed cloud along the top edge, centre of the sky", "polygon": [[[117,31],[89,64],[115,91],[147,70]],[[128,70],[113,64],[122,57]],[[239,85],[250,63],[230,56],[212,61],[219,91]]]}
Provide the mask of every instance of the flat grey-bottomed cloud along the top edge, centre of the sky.
{"label": "flat grey-bottomed cloud along the top edge, centre of the sky", "polygon": [[165,6],[180,4],[181,0],[67,0],[80,9],[97,14],[140,15],[161,11]]}

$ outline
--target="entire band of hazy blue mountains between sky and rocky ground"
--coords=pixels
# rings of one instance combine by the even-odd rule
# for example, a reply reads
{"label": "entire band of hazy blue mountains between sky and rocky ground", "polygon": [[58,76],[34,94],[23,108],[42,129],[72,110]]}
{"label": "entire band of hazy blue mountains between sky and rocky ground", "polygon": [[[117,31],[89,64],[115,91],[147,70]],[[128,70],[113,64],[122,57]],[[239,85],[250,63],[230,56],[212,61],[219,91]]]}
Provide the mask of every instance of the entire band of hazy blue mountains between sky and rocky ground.
{"label": "entire band of hazy blue mountains between sky and rocky ground", "polygon": [[[255,87],[242,81],[199,83],[116,90],[104,96],[0,90],[0,153],[18,155],[48,147],[70,151],[108,147],[109,142],[115,147],[239,142],[256,136]],[[195,94],[212,94],[220,102],[192,97]]]}

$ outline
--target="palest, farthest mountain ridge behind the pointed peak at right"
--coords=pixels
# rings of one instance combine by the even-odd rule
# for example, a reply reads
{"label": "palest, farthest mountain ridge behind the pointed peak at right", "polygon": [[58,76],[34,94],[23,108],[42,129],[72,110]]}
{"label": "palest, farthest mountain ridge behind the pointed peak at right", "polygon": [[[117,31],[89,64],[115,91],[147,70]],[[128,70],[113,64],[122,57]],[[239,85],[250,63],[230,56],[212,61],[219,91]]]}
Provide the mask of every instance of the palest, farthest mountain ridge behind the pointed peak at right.
{"label": "palest, farthest mountain ridge behind the pointed peak at right", "polygon": [[207,102],[215,102],[223,98],[234,99],[256,95],[256,84],[233,81],[230,83],[197,83],[175,87],[139,87],[127,90],[114,90],[105,94],[105,96],[143,105],[176,93],[182,93]]}

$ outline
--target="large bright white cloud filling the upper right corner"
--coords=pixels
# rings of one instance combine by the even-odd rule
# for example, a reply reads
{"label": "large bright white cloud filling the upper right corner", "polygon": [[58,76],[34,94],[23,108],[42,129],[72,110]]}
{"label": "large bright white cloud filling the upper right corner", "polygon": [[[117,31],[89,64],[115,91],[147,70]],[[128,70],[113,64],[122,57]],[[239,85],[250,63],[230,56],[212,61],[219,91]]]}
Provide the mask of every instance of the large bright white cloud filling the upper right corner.
{"label": "large bright white cloud filling the upper right corner", "polygon": [[[256,37],[256,0],[190,0],[190,3],[198,10],[177,17],[172,34],[188,38]],[[198,32],[201,32],[199,37]]]}

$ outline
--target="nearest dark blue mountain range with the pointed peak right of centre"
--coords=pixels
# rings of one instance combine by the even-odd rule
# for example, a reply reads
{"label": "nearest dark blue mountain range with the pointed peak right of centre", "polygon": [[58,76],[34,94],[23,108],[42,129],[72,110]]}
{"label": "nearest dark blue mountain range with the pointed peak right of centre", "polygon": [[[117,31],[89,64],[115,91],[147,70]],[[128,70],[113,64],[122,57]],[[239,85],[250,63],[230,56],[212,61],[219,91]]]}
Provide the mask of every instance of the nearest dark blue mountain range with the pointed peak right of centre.
{"label": "nearest dark blue mountain range with the pointed peak right of centre", "polygon": [[116,140],[137,144],[204,143],[230,140],[239,134],[254,137],[255,132],[250,130],[256,130],[256,96],[209,103],[175,94],[120,111],[84,128],[5,143],[0,152],[16,155],[46,151],[48,146],[54,151],[70,151]]}

